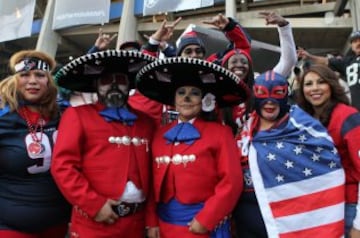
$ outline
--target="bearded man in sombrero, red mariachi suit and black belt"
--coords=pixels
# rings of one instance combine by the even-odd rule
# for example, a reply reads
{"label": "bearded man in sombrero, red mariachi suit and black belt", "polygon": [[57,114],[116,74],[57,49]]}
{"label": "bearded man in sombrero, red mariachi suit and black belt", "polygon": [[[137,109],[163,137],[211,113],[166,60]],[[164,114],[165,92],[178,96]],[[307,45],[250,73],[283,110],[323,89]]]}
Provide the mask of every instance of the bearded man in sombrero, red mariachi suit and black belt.
{"label": "bearded man in sombrero, red mariachi suit and black belt", "polygon": [[145,227],[156,225],[150,189],[154,125],[127,104],[136,73],[153,60],[108,50],[81,56],[56,75],[61,87],[96,91],[99,98],[66,109],[54,149],[51,172],[73,205],[71,237],[143,238]]}

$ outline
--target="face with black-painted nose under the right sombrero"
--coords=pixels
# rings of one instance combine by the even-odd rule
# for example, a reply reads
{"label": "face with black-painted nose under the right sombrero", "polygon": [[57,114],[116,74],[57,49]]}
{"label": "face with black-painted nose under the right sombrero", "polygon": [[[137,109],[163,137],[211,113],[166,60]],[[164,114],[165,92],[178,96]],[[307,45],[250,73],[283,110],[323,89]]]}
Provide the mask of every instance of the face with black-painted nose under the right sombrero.
{"label": "face with black-painted nose under the right sombrero", "polygon": [[183,86],[175,92],[175,109],[181,121],[189,121],[201,112],[202,92],[193,86]]}

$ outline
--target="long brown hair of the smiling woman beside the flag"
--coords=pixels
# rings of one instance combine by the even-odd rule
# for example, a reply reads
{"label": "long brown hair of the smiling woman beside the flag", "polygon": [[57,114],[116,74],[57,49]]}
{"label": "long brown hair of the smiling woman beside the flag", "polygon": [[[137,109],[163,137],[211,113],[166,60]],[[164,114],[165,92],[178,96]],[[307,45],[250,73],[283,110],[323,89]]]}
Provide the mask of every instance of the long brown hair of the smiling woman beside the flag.
{"label": "long brown hair of the smiling woman beside the flag", "polygon": [[305,99],[304,95],[304,78],[310,73],[318,74],[321,79],[323,79],[330,87],[331,96],[330,100],[325,103],[323,106],[323,112],[320,115],[319,121],[327,126],[330,120],[330,114],[332,113],[334,107],[338,103],[344,103],[349,105],[349,98],[346,96],[344,88],[339,83],[339,77],[336,75],[334,71],[332,71],[329,67],[320,64],[311,65],[302,75],[300,80],[300,90],[298,92],[296,101],[299,106],[308,112],[310,115],[314,115],[315,111],[313,105]]}

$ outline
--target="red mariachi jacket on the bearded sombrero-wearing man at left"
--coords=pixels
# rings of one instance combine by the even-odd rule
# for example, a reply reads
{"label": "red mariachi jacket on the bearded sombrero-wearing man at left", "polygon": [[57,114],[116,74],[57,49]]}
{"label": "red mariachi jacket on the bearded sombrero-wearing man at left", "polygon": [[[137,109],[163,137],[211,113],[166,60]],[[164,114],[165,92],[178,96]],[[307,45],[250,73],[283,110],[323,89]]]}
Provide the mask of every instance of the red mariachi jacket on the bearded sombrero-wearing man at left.
{"label": "red mariachi jacket on the bearded sombrero-wearing man at left", "polygon": [[[69,107],[63,114],[54,148],[51,172],[67,200],[94,217],[111,198],[117,200],[128,180],[130,160],[135,160],[140,186],[150,197],[150,143],[154,126],[142,113],[134,112],[133,126],[106,122],[101,104]],[[143,139],[139,145],[110,143],[109,138]],[[151,205],[151,199],[148,201]],[[154,207],[154,206],[153,206]],[[153,209],[154,210],[154,209]]]}

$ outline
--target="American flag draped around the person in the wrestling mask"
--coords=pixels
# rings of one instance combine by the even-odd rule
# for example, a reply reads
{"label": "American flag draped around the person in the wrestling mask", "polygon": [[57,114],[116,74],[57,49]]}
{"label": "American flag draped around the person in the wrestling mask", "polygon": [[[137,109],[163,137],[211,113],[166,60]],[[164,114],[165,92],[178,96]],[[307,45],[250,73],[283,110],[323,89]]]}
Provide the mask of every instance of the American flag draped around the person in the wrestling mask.
{"label": "American flag draped around the person in the wrestling mask", "polygon": [[258,132],[248,153],[270,238],[343,237],[345,176],[320,122],[293,106],[286,126]]}

